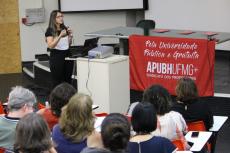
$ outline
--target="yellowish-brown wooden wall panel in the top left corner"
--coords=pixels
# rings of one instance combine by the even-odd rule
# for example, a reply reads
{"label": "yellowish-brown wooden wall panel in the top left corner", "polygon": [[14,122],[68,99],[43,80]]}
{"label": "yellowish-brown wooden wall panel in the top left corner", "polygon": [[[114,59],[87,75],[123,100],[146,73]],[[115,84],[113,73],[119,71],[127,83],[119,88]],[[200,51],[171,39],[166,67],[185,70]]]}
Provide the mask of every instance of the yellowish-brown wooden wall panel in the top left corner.
{"label": "yellowish-brown wooden wall panel in the top left corner", "polygon": [[0,74],[21,72],[18,1],[0,0]]}

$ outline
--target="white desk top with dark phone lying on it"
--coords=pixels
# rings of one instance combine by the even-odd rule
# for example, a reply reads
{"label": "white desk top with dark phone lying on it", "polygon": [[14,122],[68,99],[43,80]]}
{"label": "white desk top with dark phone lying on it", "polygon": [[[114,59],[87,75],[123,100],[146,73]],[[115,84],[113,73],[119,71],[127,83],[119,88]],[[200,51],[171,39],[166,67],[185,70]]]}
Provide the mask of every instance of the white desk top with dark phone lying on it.
{"label": "white desk top with dark phone lying on it", "polygon": [[212,132],[204,132],[201,131],[199,132],[198,137],[192,137],[192,132],[194,131],[189,131],[186,135],[185,135],[185,139],[188,142],[192,142],[193,146],[190,148],[190,151],[200,151],[204,145],[207,143],[208,139],[211,137]]}

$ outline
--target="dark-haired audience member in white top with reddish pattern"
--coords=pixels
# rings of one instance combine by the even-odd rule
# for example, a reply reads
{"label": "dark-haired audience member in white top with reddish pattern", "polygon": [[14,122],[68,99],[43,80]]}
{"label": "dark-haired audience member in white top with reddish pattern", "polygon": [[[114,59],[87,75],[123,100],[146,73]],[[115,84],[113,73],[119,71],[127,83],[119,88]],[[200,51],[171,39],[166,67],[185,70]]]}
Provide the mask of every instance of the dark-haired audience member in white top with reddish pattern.
{"label": "dark-haired audience member in white top with reddish pattern", "polygon": [[152,85],[143,93],[143,101],[153,104],[158,119],[157,129],[153,135],[162,136],[169,140],[184,138],[187,125],[178,112],[170,111],[172,100],[167,89],[160,85]]}

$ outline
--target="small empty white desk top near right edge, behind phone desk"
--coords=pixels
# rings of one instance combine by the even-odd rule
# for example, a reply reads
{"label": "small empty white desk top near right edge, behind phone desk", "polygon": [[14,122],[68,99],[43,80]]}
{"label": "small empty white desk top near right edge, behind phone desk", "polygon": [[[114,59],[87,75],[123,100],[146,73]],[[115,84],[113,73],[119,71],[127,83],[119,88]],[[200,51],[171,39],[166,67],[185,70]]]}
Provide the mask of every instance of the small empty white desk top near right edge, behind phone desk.
{"label": "small empty white desk top near right edge, behind phone desk", "polygon": [[213,127],[209,131],[218,132],[227,119],[228,116],[213,116]]}

